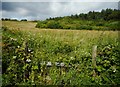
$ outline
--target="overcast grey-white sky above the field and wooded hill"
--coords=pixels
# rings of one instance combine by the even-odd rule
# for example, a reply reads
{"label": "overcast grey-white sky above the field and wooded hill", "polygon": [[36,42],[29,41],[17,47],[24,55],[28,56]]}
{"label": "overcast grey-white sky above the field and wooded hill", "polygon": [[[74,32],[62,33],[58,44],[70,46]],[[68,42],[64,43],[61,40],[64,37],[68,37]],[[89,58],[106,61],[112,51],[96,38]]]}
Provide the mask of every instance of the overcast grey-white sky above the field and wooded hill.
{"label": "overcast grey-white sky above the field and wooded hill", "polygon": [[118,2],[2,2],[3,18],[44,20],[49,17],[118,9]]}

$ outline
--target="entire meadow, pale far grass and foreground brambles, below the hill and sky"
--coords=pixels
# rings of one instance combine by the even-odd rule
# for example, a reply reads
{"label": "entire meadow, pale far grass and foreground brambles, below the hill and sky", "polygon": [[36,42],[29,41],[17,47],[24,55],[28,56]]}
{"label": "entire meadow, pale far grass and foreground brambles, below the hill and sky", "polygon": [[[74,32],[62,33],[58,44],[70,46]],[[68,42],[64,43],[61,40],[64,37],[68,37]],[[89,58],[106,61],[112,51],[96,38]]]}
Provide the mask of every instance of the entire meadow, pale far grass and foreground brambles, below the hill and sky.
{"label": "entire meadow, pale far grass and foreground brambles, below the hill and sky", "polygon": [[3,86],[120,83],[119,31],[39,29],[36,24],[2,21]]}

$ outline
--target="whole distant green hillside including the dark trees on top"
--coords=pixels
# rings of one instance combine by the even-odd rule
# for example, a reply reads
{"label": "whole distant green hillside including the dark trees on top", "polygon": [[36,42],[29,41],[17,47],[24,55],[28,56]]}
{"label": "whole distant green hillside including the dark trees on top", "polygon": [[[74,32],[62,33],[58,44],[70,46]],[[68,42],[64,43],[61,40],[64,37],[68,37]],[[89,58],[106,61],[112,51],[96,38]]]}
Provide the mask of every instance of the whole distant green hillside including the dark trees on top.
{"label": "whole distant green hillside including the dark trees on top", "polygon": [[101,12],[49,18],[38,21],[37,28],[77,30],[120,30],[120,10],[106,9]]}

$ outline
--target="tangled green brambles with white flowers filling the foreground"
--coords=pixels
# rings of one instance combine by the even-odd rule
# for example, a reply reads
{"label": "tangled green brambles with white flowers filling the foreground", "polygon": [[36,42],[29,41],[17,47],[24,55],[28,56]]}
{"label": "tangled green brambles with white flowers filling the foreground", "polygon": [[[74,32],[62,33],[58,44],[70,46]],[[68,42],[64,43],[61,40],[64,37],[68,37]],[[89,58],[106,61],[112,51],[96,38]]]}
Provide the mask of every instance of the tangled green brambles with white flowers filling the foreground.
{"label": "tangled green brambles with white flowers filling the foreground", "polygon": [[[120,83],[119,44],[98,43],[96,76],[91,47],[49,36],[2,28],[2,84],[7,85],[117,85]],[[103,37],[104,39],[105,37]],[[89,44],[94,44],[91,41]]]}

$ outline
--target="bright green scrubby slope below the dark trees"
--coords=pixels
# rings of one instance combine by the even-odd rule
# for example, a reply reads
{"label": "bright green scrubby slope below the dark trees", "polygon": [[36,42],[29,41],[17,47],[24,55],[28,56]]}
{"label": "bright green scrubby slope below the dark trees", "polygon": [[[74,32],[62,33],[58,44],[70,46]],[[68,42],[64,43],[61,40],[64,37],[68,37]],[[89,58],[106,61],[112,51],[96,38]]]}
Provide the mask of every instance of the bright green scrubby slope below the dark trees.
{"label": "bright green scrubby slope below the dark trees", "polygon": [[36,27],[68,30],[119,30],[119,21],[81,20],[79,18],[65,17],[59,20],[39,21]]}

